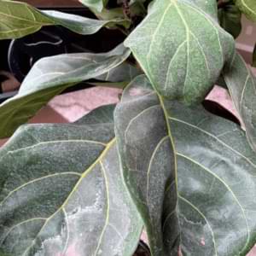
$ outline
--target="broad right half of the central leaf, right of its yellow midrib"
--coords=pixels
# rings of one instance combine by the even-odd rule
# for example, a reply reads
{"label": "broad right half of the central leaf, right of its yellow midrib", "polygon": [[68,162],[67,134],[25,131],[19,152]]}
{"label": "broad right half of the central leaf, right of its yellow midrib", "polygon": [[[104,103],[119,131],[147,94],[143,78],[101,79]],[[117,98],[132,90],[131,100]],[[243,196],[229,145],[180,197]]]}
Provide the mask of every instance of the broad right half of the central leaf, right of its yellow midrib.
{"label": "broad right half of the central leaf, right of its yellow midrib", "polygon": [[256,240],[256,157],[244,132],[201,107],[166,102],[166,111],[183,255],[247,255]]}

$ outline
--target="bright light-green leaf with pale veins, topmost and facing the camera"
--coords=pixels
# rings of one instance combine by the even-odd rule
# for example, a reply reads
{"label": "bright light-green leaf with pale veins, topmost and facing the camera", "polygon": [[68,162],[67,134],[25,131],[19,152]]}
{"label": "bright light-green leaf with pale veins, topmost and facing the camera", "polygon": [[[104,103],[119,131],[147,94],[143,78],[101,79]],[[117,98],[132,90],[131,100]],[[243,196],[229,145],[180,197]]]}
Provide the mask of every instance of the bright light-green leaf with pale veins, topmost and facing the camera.
{"label": "bright light-green leaf with pale veins, topmost and facing the camera", "polygon": [[204,99],[235,48],[215,0],[154,1],[125,45],[161,96],[187,104]]}

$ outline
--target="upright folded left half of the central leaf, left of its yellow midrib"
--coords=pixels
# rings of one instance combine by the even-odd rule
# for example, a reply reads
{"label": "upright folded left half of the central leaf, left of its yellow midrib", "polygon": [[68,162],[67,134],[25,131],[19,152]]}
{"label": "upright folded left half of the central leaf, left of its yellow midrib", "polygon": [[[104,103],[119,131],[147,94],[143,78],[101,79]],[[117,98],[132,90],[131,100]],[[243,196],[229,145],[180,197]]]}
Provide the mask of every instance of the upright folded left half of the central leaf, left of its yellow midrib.
{"label": "upright folded left half of the central leaf, left of its yellow midrib", "polygon": [[[125,88],[114,116],[125,182],[143,216],[151,251],[153,255],[167,255],[175,247],[173,255],[177,255],[172,141],[159,99],[144,76]],[[167,206],[166,212],[174,212],[170,236],[163,236],[165,199],[172,204]]]}

